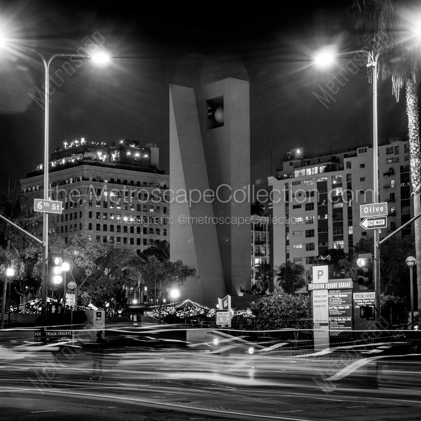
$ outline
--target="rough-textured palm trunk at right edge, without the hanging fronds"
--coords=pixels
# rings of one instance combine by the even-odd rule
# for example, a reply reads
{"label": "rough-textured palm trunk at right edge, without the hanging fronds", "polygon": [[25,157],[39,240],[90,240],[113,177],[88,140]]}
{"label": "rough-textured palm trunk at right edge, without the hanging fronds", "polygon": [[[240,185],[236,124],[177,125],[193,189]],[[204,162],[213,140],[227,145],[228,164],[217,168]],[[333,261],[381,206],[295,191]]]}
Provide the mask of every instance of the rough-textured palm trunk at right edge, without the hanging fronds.
{"label": "rough-textured palm trunk at right edge, without the hanging fronds", "polygon": [[[418,87],[412,78],[405,83],[406,115],[408,116],[408,137],[410,147],[411,185],[414,203],[414,215],[421,212],[421,155],[420,123],[418,113]],[[418,287],[418,322],[421,323],[421,218],[415,221],[415,257]]]}

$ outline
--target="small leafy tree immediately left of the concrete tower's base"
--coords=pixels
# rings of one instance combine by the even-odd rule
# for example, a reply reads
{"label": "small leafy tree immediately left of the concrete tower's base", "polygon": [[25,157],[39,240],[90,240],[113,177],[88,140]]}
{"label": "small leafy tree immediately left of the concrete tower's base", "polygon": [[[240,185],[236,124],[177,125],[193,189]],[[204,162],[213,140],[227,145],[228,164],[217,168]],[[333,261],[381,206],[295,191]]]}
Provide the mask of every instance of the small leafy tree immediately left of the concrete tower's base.
{"label": "small leafy tree immediately left of the concrete tower's base", "polygon": [[149,291],[157,289],[155,299],[159,300],[159,321],[161,321],[163,298],[167,289],[183,285],[188,277],[196,277],[196,269],[184,264],[181,260],[160,261],[156,256],[151,256],[143,262],[140,266],[140,273],[143,283]]}

